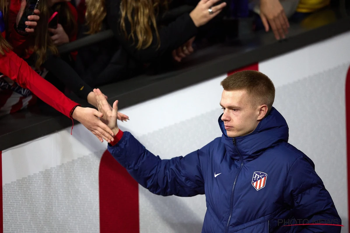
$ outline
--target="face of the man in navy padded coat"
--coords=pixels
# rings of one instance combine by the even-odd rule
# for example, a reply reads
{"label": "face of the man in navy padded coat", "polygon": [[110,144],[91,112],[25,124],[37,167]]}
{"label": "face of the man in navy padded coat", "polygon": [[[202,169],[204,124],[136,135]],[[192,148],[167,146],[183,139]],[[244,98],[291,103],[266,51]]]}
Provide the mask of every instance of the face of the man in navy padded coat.
{"label": "face of the man in navy padded coat", "polygon": [[230,138],[253,132],[262,118],[261,106],[254,106],[246,90],[224,90],[220,105],[224,110],[221,119]]}

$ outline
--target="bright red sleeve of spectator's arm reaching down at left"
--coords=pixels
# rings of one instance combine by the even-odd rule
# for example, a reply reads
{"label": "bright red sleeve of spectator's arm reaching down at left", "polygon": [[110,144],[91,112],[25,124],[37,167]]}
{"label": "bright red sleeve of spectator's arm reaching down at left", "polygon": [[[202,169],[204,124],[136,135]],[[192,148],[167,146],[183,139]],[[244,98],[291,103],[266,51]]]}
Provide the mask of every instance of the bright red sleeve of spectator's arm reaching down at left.
{"label": "bright red sleeve of spectator's arm reaching down at left", "polygon": [[77,105],[51,83],[40,77],[23,59],[14,52],[0,55],[0,72],[29,89],[39,99],[70,118],[70,111]]}

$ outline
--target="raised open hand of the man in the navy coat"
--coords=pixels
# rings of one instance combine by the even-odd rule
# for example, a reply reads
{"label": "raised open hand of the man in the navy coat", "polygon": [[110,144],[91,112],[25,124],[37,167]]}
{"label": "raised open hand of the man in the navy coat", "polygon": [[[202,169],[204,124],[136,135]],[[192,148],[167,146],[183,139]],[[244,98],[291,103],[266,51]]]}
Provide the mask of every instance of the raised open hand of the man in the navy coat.
{"label": "raised open hand of the man in the navy coat", "polygon": [[98,111],[103,114],[101,121],[112,130],[114,135],[116,135],[119,131],[117,125],[118,100],[113,103],[113,108],[111,108],[111,105],[107,102],[100,89],[93,89],[93,92],[96,95]]}

